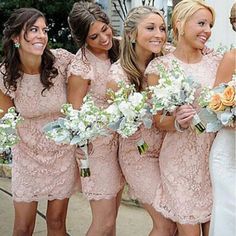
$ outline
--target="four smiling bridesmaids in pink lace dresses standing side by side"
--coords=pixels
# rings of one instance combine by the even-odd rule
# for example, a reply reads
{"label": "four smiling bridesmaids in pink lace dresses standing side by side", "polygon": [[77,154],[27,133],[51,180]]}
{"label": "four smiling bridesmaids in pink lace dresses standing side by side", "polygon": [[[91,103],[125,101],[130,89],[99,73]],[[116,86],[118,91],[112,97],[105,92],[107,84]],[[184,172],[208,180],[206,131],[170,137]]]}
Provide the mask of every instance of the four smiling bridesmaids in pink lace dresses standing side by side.
{"label": "four smiling bridesmaids in pink lace dresses standing side by side", "polygon": [[[235,65],[229,69],[225,58],[202,53],[214,21],[214,9],[203,0],[182,0],[172,15],[175,47],[167,48],[167,28],[157,9],[133,8],[119,41],[97,4],[78,2],[68,16],[79,48],[73,55],[48,48],[48,27],[40,11],[21,8],[11,14],[3,31],[0,107],[6,112],[15,106],[24,118],[18,127],[20,141],[13,148],[14,236],[33,234],[41,199],[48,200],[47,235],[65,236],[68,201],[78,190],[92,211],[86,235],[115,236],[125,183],[152,218],[150,236],[209,235],[214,196],[209,155],[215,134],[198,135],[191,129],[197,102],[164,119],[155,115],[151,129],[141,126],[129,138],[115,132],[97,138],[89,145],[91,176],[86,178],[78,174],[82,150],[55,144],[42,128],[61,116],[62,104],[79,109],[88,92],[97,105],[106,107],[106,90],[118,90],[121,80],[134,84],[137,91],[158,84],[158,65],[171,68],[173,60],[202,87],[229,81]],[[143,155],[137,149],[140,138],[149,146]],[[235,220],[235,214],[214,224],[222,231],[211,229],[211,236],[230,236],[223,229],[231,227],[228,232],[234,232],[235,225],[224,224]]]}

